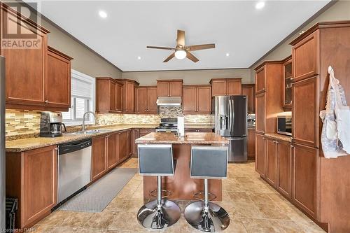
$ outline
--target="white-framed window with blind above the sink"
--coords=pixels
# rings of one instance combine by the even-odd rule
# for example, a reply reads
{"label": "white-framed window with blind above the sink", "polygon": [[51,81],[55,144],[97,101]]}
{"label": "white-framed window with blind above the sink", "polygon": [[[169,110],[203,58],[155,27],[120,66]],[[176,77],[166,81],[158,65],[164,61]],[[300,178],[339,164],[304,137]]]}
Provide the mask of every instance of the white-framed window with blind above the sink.
{"label": "white-framed window with blind above the sink", "polygon": [[[66,125],[81,125],[84,113],[94,112],[94,88],[94,78],[71,70],[71,108],[68,112],[62,113]],[[94,124],[94,117],[91,114],[87,114],[85,120],[86,124]]]}

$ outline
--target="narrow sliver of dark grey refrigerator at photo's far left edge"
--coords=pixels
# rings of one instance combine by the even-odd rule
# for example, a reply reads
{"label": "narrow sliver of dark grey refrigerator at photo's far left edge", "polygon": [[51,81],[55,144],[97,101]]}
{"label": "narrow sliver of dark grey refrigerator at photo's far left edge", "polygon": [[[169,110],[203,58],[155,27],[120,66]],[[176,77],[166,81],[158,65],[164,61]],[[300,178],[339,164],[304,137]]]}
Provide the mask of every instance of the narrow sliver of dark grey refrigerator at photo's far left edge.
{"label": "narrow sliver of dark grey refrigerator at photo's far left edge", "polygon": [[0,232],[5,231],[5,58],[0,56]]}

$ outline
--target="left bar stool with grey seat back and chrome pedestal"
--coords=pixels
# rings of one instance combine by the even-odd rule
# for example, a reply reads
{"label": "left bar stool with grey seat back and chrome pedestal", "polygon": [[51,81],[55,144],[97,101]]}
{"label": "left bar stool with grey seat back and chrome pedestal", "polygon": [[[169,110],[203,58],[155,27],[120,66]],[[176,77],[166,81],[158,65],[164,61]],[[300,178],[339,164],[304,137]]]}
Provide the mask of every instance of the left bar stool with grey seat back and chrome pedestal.
{"label": "left bar stool with grey seat back and chrome pedestal", "polygon": [[[141,176],[157,176],[158,188],[151,195],[156,200],[144,204],[137,213],[137,220],[148,230],[165,229],[176,223],[180,216],[180,207],[172,201],[164,199],[171,193],[162,190],[162,176],[174,176],[174,160],[172,145],[150,144],[138,145],[139,174]],[[154,193],[157,192],[155,196]],[[162,197],[162,192],[169,195]]]}

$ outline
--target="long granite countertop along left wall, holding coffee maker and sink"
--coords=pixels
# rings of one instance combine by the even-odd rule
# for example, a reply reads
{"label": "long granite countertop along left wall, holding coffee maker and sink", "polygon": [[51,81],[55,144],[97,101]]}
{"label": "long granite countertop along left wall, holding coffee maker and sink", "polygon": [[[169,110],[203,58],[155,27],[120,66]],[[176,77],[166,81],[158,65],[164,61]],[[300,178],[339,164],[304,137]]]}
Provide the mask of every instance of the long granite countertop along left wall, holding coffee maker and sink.
{"label": "long granite countertop along left wall, holding coffee maker and sink", "polygon": [[22,152],[26,150],[33,150],[37,148],[43,148],[45,146],[53,146],[61,143],[68,143],[71,141],[78,141],[81,139],[89,139],[94,136],[100,136],[103,134],[111,134],[112,132],[118,132],[125,129],[135,128],[155,128],[158,125],[113,125],[113,126],[100,126],[100,127],[89,127],[89,129],[111,129],[109,132],[100,132],[97,134],[63,134],[56,138],[41,138],[32,137],[28,139],[18,139],[12,141],[6,141],[6,152]]}

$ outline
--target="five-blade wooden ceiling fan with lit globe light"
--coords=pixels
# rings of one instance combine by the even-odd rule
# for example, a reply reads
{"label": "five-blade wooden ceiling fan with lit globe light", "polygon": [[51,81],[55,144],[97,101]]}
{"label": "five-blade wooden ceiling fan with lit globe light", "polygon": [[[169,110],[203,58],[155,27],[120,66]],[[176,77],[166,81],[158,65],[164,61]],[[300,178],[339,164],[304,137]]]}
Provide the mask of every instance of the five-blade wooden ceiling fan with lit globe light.
{"label": "five-blade wooden ceiling fan with lit globe light", "polygon": [[193,62],[198,62],[199,59],[190,52],[196,51],[196,50],[207,50],[209,48],[215,48],[215,43],[209,43],[205,45],[186,46],[185,31],[177,30],[176,48],[158,47],[158,46],[147,46],[147,48],[156,48],[160,50],[174,50],[174,52],[169,57],[167,57],[167,59],[165,59],[163,62],[168,62],[173,57],[176,57],[177,59],[184,59],[185,57],[187,57]]}

